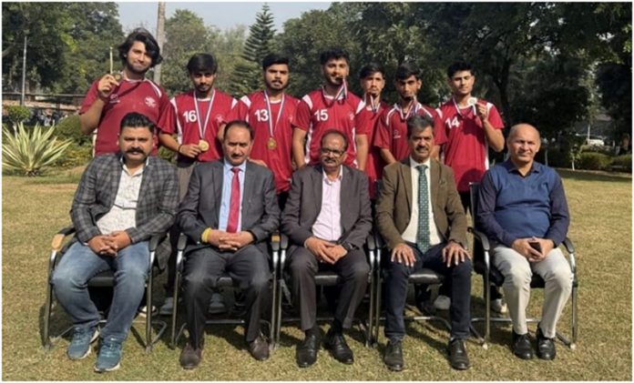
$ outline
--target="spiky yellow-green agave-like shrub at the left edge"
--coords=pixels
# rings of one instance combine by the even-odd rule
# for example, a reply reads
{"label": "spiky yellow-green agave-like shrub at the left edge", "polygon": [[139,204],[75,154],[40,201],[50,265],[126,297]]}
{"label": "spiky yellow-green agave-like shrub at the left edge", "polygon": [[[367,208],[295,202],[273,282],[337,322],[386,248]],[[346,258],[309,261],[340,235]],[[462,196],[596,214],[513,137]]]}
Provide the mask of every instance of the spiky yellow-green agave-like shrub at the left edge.
{"label": "spiky yellow-green agave-like shrub at the left edge", "polygon": [[26,130],[23,123],[16,126],[15,135],[5,127],[2,129],[2,166],[25,176],[39,175],[43,168],[55,163],[71,144],[70,140],[58,141],[53,136],[53,126],[35,126],[30,130]]}

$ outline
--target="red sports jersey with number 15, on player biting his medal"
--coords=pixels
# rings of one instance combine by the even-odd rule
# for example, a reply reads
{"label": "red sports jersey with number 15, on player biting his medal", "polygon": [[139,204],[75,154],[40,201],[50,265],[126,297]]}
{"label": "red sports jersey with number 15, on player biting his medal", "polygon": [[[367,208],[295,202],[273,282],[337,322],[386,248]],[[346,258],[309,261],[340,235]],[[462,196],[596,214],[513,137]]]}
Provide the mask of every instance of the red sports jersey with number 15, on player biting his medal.
{"label": "red sports jersey with number 15, on player biting his medal", "polygon": [[308,151],[304,161],[309,164],[319,163],[319,149],[323,132],[337,129],[347,137],[348,150],[345,164],[356,166],[356,144],[354,137],[364,135],[361,127],[357,127],[357,116],[365,104],[358,96],[345,92],[336,101],[331,96],[324,96],[322,89],[313,90],[297,106],[294,127],[307,132],[306,147]]}

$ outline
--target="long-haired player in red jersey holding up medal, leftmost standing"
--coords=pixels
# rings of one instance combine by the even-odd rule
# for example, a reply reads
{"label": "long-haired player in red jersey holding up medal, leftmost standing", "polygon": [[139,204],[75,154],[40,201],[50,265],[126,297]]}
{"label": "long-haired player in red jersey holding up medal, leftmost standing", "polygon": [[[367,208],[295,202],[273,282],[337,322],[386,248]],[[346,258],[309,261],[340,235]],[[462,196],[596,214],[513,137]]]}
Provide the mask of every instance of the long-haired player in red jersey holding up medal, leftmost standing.
{"label": "long-haired player in red jersey holding up medal, leftmost standing", "polygon": [[[95,156],[118,152],[118,126],[123,116],[137,112],[157,124],[169,108],[165,90],[145,78],[148,69],[163,57],[157,41],[143,28],[132,31],[118,46],[123,68],[95,81],[79,108],[81,132],[89,135],[97,129]],[[156,154],[155,141],[152,154]]]}

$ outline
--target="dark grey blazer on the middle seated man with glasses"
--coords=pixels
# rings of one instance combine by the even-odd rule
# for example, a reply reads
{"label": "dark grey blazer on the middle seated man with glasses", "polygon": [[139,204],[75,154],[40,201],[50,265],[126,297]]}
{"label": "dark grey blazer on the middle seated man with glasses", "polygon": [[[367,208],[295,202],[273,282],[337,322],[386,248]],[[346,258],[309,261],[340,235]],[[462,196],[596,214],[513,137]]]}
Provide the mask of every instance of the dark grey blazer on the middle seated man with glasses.
{"label": "dark grey blazer on the middle seated man with glasses", "polygon": [[[281,230],[289,236],[291,245],[303,246],[312,237],[312,225],[322,209],[322,178],[322,166],[304,166],[292,175],[281,219]],[[372,230],[368,177],[349,166],[343,166],[341,214],[342,237],[338,242],[363,247]]]}

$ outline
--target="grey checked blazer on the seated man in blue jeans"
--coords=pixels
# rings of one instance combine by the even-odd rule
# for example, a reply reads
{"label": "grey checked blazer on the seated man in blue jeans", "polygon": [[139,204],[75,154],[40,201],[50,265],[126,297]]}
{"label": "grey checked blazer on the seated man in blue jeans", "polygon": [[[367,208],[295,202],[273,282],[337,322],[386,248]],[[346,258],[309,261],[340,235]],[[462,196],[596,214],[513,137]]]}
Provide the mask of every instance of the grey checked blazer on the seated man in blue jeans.
{"label": "grey checked blazer on the seated man in blue jeans", "polygon": [[[97,220],[115,204],[122,171],[121,155],[111,153],[95,157],[81,176],[70,210],[77,239],[81,242],[101,235]],[[167,231],[174,222],[178,205],[176,167],[149,156],[138,193],[137,225],[126,230],[132,243]]]}

